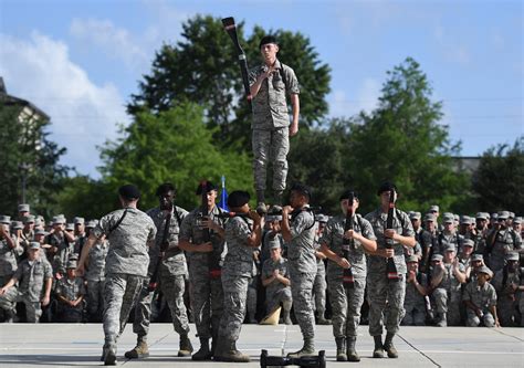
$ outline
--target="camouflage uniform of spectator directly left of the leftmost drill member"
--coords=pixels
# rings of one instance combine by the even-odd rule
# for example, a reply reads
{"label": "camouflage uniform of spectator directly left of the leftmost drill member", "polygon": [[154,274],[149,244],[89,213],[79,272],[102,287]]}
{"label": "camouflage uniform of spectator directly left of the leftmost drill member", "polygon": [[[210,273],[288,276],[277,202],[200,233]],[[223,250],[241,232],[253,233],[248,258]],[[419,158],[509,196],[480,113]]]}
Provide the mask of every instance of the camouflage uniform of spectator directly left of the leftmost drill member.
{"label": "camouflage uniform of spectator directly left of the leftmost drill member", "polygon": [[105,257],[109,250],[108,242],[96,241],[90,250],[90,261],[85,272],[87,281],[87,313],[97,319],[98,313],[104,309]]}

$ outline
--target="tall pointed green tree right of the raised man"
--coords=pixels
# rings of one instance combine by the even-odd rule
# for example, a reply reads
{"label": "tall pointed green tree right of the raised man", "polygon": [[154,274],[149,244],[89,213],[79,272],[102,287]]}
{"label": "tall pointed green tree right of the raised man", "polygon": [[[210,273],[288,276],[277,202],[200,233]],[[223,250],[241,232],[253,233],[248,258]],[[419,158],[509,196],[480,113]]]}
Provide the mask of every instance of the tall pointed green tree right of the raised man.
{"label": "tall pointed green tree right of the raised man", "polygon": [[376,202],[376,188],[386,179],[397,183],[405,208],[428,208],[436,201],[453,210],[468,192],[468,177],[453,170],[451,156],[460,151],[448,127],[439,124],[442,104],[411,57],[389,71],[378,107],[352,124],[347,169]]}

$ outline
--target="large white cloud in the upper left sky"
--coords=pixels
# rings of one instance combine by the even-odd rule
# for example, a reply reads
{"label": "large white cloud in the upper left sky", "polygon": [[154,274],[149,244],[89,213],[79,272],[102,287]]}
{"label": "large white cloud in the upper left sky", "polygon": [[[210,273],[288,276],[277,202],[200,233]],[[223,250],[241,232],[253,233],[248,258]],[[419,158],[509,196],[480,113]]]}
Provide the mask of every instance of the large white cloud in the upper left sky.
{"label": "large white cloud in the upper left sky", "polygon": [[96,145],[127,123],[124,101],[112,84],[96,85],[70,60],[67,45],[33,32],[29,40],[0,33],[0,75],[9,94],[31,101],[51,117],[50,139],[67,148],[62,164],[97,176]]}

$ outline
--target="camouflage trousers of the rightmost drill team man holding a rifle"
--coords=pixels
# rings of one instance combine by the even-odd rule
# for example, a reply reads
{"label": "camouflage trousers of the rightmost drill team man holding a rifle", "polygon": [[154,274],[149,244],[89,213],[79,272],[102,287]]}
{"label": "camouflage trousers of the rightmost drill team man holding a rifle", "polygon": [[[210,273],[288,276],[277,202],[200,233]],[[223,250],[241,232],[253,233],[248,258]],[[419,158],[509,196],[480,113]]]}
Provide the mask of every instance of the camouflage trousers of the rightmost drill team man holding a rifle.
{"label": "camouflage trousers of the rightmost drill team man holding a rifle", "polygon": [[369,335],[380,336],[382,326],[391,334],[399,330],[404,318],[404,297],[406,295],[405,276],[389,281],[386,272],[368,271]]}

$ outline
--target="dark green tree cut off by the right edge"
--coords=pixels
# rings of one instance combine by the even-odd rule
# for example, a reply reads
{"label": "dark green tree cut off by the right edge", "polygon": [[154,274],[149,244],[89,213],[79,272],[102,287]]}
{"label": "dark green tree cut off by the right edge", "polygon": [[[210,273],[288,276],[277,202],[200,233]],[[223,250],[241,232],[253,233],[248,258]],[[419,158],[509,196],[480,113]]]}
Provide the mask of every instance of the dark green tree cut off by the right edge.
{"label": "dark green tree cut off by the right edge", "polygon": [[499,145],[482,155],[480,166],[473,174],[473,191],[480,209],[522,213],[523,187],[524,136],[518,137],[513,147]]}

